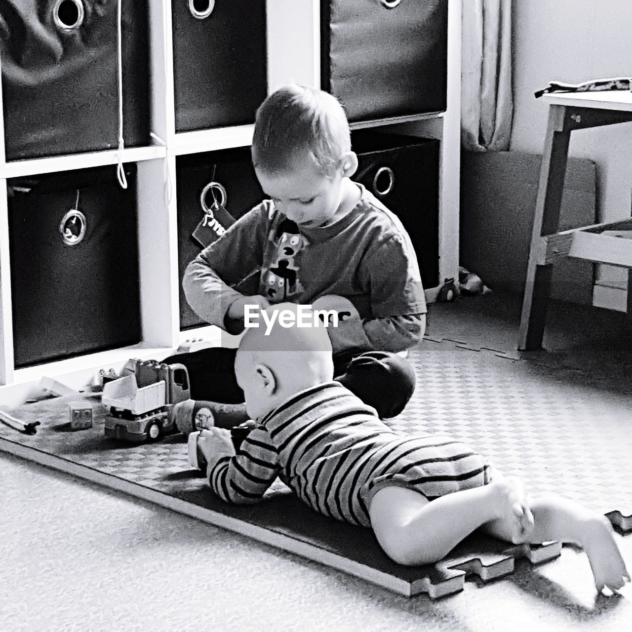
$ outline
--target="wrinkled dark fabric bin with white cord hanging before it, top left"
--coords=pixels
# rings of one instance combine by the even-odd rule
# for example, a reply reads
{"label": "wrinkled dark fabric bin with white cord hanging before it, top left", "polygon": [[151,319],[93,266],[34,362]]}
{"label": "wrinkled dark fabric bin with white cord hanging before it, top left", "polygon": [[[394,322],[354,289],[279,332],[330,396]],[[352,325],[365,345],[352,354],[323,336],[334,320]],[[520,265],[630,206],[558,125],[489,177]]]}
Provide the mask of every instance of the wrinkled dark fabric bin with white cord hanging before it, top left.
{"label": "wrinkled dark fabric bin with white cord hanging before it, top left", "polygon": [[[149,144],[147,0],[121,1],[123,138]],[[118,147],[117,4],[0,4],[7,160]]]}

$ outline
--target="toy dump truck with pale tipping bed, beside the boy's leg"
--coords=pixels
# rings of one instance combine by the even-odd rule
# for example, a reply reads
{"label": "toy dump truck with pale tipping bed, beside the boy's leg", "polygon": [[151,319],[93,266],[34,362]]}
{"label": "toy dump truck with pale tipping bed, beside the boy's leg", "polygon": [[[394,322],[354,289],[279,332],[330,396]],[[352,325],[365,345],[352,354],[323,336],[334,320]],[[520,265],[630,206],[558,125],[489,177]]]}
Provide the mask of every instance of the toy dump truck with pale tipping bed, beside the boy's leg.
{"label": "toy dump truck with pale tipping bed, beside the boy's leg", "polygon": [[155,441],[176,430],[174,404],[190,398],[189,376],[181,364],[136,360],[134,372],[103,386],[102,403],[109,408],[106,437]]}

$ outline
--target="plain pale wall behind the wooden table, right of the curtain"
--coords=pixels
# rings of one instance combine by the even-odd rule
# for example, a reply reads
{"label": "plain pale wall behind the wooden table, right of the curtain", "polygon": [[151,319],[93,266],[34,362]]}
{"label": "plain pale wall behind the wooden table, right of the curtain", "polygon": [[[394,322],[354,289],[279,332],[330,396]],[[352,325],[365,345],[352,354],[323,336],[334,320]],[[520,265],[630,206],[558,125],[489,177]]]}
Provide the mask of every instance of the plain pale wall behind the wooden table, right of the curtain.
{"label": "plain pale wall behind the wooden table, right of the curtain", "polygon": [[[465,0],[466,2],[468,0]],[[541,153],[547,107],[533,97],[549,81],[632,76],[632,0],[513,0],[512,150]],[[632,123],[571,134],[569,155],[597,163],[599,221],[630,215]],[[621,270],[600,282],[623,281]]]}

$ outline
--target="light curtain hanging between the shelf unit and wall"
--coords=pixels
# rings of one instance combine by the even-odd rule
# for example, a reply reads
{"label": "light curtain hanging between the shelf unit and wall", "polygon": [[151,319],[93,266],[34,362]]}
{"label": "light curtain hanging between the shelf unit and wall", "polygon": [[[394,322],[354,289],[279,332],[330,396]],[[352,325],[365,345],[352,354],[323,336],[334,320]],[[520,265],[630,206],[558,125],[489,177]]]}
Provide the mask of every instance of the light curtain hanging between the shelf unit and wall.
{"label": "light curtain hanging between the shelf unit and wall", "polygon": [[461,144],[471,151],[509,148],[511,0],[463,0]]}

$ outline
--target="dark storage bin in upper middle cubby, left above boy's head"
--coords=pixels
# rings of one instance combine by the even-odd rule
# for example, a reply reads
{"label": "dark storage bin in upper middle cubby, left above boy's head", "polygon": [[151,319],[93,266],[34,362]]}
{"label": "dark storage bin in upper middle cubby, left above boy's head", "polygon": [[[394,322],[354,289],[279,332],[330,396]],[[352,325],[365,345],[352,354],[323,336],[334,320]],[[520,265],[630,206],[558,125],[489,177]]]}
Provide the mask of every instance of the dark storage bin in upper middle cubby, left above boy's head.
{"label": "dark storage bin in upper middle cubby, left above boy's head", "polygon": [[265,0],[173,0],[176,131],[253,123],[267,94]]}

